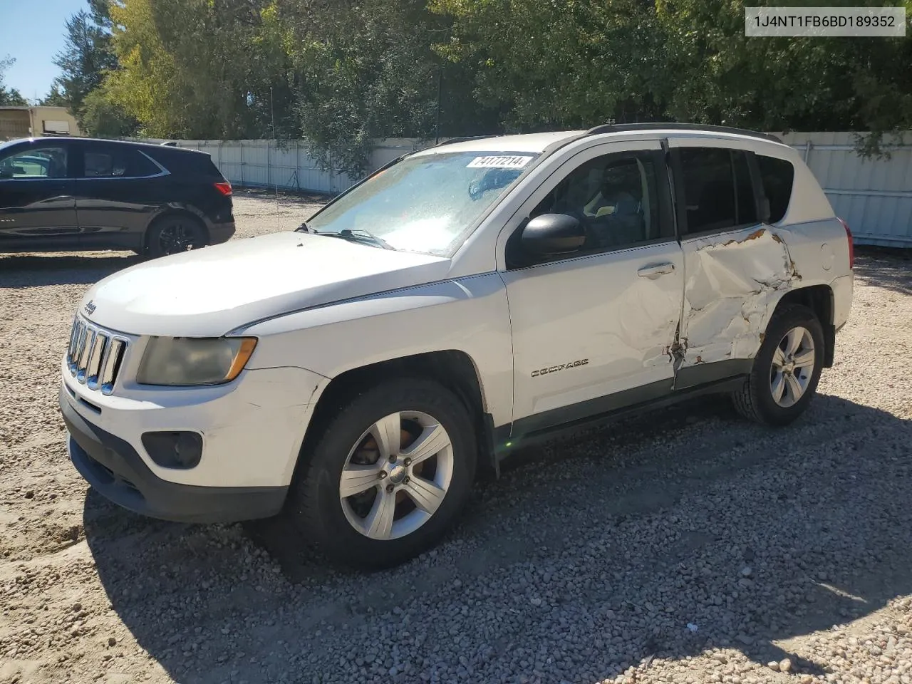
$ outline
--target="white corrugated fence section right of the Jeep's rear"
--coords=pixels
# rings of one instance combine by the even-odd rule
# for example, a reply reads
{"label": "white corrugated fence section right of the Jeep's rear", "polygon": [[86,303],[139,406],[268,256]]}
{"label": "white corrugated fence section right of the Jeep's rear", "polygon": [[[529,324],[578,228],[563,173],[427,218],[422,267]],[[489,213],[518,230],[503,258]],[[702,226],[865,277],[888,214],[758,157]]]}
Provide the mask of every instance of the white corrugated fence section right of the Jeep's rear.
{"label": "white corrugated fence section right of the Jeep's rear", "polygon": [[865,160],[855,153],[855,133],[780,137],[802,153],[856,243],[912,247],[912,144],[888,148],[889,160]]}

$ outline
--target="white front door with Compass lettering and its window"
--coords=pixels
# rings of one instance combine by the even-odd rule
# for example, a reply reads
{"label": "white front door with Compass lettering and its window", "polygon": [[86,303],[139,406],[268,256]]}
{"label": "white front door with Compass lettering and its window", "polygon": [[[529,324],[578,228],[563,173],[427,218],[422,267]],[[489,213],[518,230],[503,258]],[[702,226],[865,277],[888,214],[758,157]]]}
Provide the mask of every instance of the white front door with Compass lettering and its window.
{"label": "white front door with Compass lettering and its window", "polygon": [[506,245],[513,327],[513,436],[668,394],[683,293],[658,140],[577,153],[527,203],[586,227],[577,254],[536,260]]}

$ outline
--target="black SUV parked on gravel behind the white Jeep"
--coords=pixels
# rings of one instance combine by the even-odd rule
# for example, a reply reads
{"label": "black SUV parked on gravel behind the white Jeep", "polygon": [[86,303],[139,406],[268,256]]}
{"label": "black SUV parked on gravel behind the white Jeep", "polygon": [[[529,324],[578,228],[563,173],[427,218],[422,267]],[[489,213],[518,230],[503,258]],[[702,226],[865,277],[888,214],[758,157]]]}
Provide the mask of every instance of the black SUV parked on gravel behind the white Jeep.
{"label": "black SUV parked on gravel behind the white Jeep", "polygon": [[130,249],[150,257],[234,233],[208,154],[88,138],[0,143],[0,252]]}

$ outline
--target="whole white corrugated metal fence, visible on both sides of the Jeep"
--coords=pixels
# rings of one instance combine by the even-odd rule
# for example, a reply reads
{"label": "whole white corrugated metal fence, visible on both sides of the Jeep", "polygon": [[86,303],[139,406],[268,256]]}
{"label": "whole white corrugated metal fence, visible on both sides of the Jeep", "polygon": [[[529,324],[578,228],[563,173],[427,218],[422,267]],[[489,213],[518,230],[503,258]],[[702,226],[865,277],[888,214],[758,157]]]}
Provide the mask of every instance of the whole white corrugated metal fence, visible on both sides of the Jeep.
{"label": "whole white corrugated metal fence, visible on both sides of the Jeep", "polygon": [[[864,160],[855,153],[854,133],[792,132],[780,137],[802,153],[834,211],[852,228],[855,242],[912,247],[912,144],[891,148],[889,160]],[[912,140],[912,133],[906,138]],[[355,182],[343,171],[321,171],[302,141],[180,140],[178,144],[209,152],[225,178],[239,186],[335,194]],[[379,140],[371,168],[428,144]]]}

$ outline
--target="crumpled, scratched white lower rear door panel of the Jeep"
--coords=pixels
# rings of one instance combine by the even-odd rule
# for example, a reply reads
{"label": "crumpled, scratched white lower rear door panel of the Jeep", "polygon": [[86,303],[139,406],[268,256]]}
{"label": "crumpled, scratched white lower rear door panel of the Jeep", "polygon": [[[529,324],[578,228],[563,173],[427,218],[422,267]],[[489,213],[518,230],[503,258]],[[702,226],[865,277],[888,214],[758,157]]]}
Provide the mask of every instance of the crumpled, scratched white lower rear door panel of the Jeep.
{"label": "crumpled, scratched white lower rear door panel of the Jeep", "polygon": [[785,241],[760,228],[683,246],[680,365],[753,357],[772,310],[801,278]]}

